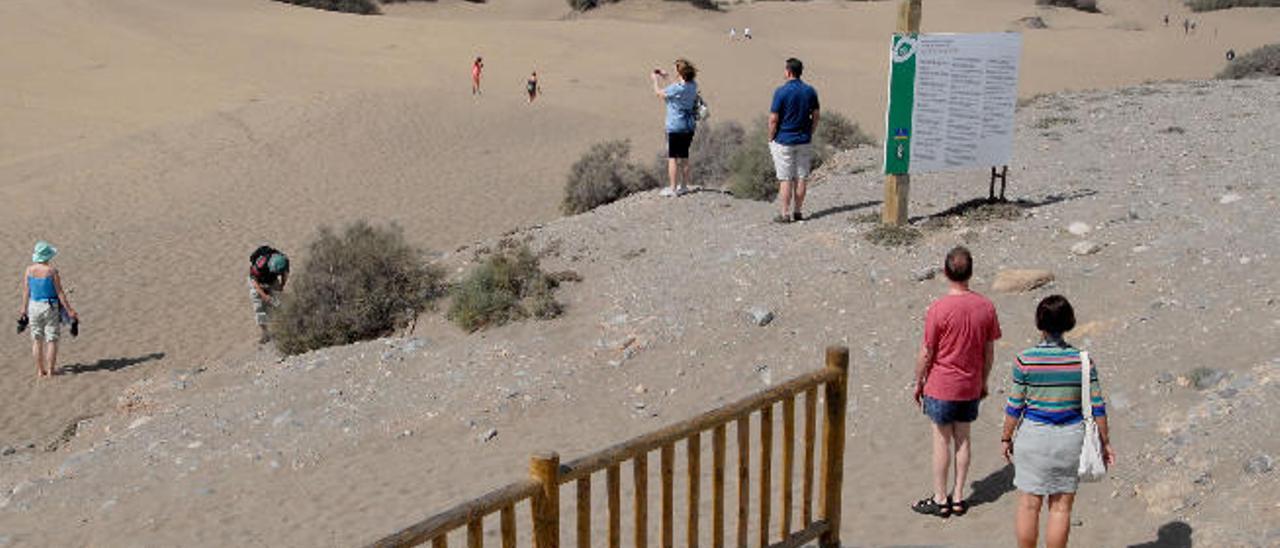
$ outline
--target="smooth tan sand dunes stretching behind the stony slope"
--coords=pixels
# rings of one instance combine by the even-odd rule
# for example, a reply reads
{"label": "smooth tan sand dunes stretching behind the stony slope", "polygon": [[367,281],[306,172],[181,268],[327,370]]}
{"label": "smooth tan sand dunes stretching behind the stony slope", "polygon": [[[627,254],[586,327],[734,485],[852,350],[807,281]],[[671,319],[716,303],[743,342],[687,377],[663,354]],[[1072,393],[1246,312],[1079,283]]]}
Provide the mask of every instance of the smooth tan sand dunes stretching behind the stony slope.
{"label": "smooth tan sand dunes stretching behind the stony slope", "polygon": [[[1208,77],[1228,47],[1280,26],[1276,12],[1230,10],[1196,14],[1183,36],[1160,23],[1187,17],[1172,1],[1101,15],[974,4],[931,0],[924,29],[1048,23],[1025,33],[1024,96]],[[558,0],[442,1],[371,18],[262,0],[0,3],[0,251],[17,282],[31,243],[55,242],[84,318],[63,348],[73,374],[37,382],[24,338],[0,348],[0,446],[46,447],[142,379],[253,356],[243,262],[261,242],[298,252],[316,225],[367,218],[452,251],[556,218],[590,143],[658,149],[646,74],[677,55],[701,67],[717,119],[762,115],[796,55],[826,108],[878,132],[893,9],[637,0],[566,17]],[[755,40],[730,42],[730,26]],[[483,97],[468,93],[475,55]],[[532,69],[545,96],[527,105]]]}

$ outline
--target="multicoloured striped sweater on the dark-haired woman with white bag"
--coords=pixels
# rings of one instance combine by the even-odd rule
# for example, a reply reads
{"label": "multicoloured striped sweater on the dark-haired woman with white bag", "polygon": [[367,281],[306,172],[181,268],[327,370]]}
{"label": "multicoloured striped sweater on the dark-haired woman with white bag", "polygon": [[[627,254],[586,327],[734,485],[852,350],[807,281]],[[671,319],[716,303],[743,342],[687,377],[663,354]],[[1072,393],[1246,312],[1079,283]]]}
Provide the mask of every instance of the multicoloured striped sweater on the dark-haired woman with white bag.
{"label": "multicoloured striped sweater on the dark-haired woman with white bag", "polygon": [[[1080,412],[1080,351],[1065,342],[1042,342],[1021,351],[1014,364],[1005,412],[1042,424],[1076,424]],[[1098,367],[1089,369],[1093,416],[1106,416]]]}

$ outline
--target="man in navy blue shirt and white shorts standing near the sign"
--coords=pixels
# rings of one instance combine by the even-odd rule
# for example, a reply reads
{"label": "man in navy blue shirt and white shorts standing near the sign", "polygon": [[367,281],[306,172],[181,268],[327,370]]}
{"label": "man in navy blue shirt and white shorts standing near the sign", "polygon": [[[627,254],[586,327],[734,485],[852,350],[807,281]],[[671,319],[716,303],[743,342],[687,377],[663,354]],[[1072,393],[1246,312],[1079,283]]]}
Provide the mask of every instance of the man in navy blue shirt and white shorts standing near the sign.
{"label": "man in navy blue shirt and white shorts standing near the sign", "polygon": [[769,152],[778,177],[782,214],[774,223],[804,220],[805,178],[813,161],[813,131],[818,127],[818,91],[800,81],[804,63],[787,59],[787,81],[773,92],[769,106]]}

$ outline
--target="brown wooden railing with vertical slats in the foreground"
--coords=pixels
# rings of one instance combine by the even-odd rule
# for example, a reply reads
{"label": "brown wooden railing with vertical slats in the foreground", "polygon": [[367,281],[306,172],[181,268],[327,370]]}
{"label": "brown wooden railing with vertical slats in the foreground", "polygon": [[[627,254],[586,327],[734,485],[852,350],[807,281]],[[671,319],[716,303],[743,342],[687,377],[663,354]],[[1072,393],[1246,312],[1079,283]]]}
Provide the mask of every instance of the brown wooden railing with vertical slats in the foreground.
{"label": "brown wooden railing with vertical slats in the foreground", "polygon": [[[710,503],[710,544],[722,548],[724,535],[724,460],[728,425],[735,424],[737,435],[737,520],[736,545],[750,544],[751,496],[750,496],[750,456],[751,456],[751,415],[759,412],[759,487],[756,545],[759,547],[799,547],[817,539],[823,548],[840,545],[841,485],[844,481],[845,455],[845,406],[849,383],[849,348],[827,348],[827,365],[822,370],[801,375],[748,398],[709,411],[696,417],[673,424],[660,430],[634,438],[607,449],[584,456],[562,465],[556,453],[534,455],[529,462],[530,479],[495,489],[484,497],[461,503],[444,512],[422,520],[410,528],[378,540],[370,547],[411,547],[430,542],[433,548],[447,548],[449,533],[466,526],[468,548],[483,548],[484,519],[499,515],[502,548],[515,548],[517,543],[516,504],[530,502],[532,542],[536,548],[558,548],[561,526],[561,485],[573,483],[576,487],[576,540],[579,548],[593,545],[591,521],[591,476],[604,471],[607,493],[605,539],[609,548],[621,547],[622,540],[622,463],[631,461],[631,485],[634,504],[634,524],[631,533],[636,548],[649,544],[649,453],[659,453],[659,478],[662,481],[662,502],[659,534],[660,545],[675,544],[675,465],[677,444],[685,446],[685,487],[686,520],[685,544],[696,548],[700,535],[700,497],[701,497],[701,435],[710,431],[712,447],[712,503]],[[824,402],[822,421],[822,462],[818,497],[818,515],[813,513],[814,451],[817,442],[817,407],[819,387]],[[792,525],[792,469],[795,465],[796,398],[804,394],[804,461],[800,487],[800,521]],[[782,470],[781,490],[774,494],[773,480],[773,408],[782,403]],[[771,534],[772,499],[777,496],[780,510],[780,529],[777,542]],[[604,544],[600,544],[604,545]]]}

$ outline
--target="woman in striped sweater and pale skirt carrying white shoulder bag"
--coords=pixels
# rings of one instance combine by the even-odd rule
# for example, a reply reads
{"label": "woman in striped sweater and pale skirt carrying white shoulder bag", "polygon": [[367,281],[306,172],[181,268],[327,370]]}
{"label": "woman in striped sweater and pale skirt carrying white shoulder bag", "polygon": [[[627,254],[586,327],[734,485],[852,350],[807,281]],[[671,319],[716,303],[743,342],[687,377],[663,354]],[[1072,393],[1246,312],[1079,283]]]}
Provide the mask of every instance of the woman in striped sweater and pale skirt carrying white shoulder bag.
{"label": "woman in striped sweater and pale skirt carrying white shoulder bag", "polygon": [[[1036,306],[1036,328],[1041,332],[1041,343],[1019,352],[1014,364],[1000,446],[1005,461],[1014,465],[1014,487],[1019,492],[1018,545],[1036,547],[1041,507],[1047,497],[1044,545],[1059,548],[1066,545],[1071,528],[1084,443],[1080,351],[1062,338],[1075,328],[1075,311],[1066,297],[1044,297]],[[1088,396],[1103,462],[1111,467],[1116,455],[1111,448],[1097,367],[1089,367]]]}

